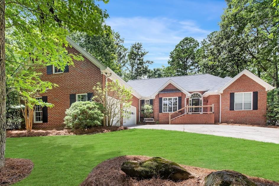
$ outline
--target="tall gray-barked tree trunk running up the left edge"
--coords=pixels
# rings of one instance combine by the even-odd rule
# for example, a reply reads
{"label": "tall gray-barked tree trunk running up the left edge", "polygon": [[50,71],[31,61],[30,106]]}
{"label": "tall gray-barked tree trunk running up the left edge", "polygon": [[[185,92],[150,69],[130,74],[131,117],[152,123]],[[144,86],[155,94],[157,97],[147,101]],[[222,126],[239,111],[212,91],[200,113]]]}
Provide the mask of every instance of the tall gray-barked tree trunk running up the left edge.
{"label": "tall gray-barked tree trunk running up the left edge", "polygon": [[5,71],[5,0],[0,0],[0,168],[5,164],[6,147],[6,71]]}

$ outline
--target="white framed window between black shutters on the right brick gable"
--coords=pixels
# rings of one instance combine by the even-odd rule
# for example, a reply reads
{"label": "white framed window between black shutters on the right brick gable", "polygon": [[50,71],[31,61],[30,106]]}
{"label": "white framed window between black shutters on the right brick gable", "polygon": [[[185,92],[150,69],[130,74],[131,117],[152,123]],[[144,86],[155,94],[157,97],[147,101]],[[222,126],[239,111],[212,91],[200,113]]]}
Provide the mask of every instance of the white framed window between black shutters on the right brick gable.
{"label": "white framed window between black shutters on the right brick gable", "polygon": [[252,92],[234,93],[234,110],[252,110]]}

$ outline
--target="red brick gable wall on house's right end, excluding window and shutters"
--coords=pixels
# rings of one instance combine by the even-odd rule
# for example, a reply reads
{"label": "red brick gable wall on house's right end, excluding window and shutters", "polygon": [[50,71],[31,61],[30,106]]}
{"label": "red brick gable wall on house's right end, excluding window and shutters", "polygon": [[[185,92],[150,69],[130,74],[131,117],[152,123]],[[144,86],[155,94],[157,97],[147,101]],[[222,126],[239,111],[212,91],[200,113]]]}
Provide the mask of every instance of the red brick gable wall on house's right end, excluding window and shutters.
{"label": "red brick gable wall on house's right end, excluding window and shutters", "polygon": [[[231,92],[258,91],[258,110],[230,110]],[[221,123],[245,123],[264,125],[266,123],[267,92],[265,88],[245,74],[228,86],[221,94]]]}

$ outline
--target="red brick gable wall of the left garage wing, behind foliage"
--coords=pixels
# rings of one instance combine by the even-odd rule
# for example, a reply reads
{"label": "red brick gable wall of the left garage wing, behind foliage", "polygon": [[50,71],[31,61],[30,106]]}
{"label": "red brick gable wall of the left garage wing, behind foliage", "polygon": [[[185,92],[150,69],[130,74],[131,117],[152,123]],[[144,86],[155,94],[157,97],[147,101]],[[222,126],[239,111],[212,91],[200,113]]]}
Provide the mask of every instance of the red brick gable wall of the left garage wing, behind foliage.
{"label": "red brick gable wall of the left garage wing, behind foliage", "polygon": [[[69,53],[80,54],[73,47],[67,50]],[[48,97],[48,102],[54,107],[48,108],[48,123],[33,123],[34,128],[64,126],[65,111],[70,106],[70,94],[93,92],[92,88],[97,82],[105,82],[100,69],[84,56],[83,58],[84,61],[74,60],[74,66],[69,66],[67,73],[46,74],[46,68],[41,70],[43,81],[51,81],[59,87],[42,94]]]}

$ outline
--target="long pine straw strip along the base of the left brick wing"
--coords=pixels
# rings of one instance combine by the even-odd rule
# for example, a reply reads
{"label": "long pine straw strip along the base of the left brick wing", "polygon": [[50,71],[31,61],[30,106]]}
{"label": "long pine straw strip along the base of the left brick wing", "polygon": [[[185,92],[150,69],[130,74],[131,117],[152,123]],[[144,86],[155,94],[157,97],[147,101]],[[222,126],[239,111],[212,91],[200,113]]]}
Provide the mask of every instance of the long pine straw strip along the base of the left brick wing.
{"label": "long pine straw strip along the base of the left brick wing", "polygon": [[126,130],[127,127],[124,126],[112,126],[112,127],[93,127],[88,129],[77,129],[71,131],[69,129],[32,129],[31,132],[26,130],[7,130],[7,138],[13,137],[32,137],[32,136],[56,136],[56,135],[82,135],[82,134],[96,134],[96,133],[106,133],[117,130]]}

